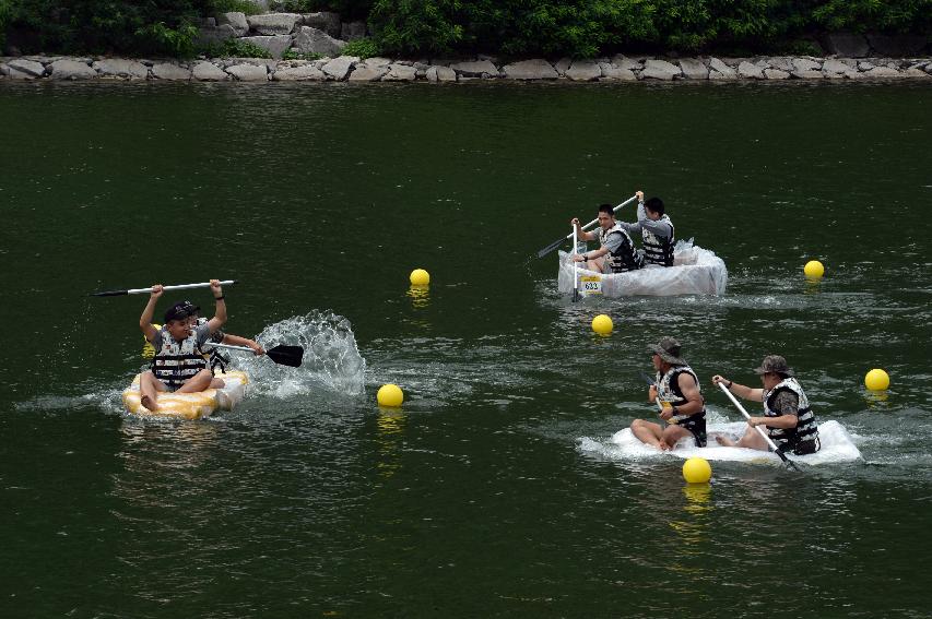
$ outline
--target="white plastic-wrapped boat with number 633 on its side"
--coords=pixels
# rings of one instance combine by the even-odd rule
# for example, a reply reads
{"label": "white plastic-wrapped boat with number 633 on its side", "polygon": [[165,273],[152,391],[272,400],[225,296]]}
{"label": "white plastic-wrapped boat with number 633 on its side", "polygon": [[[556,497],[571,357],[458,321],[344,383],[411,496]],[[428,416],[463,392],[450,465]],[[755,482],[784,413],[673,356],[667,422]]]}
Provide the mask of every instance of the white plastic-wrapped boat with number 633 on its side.
{"label": "white plastic-wrapped boat with number 633 on its side", "polygon": [[[569,253],[559,252],[557,289],[571,294],[573,265]],[[723,295],[728,285],[728,269],[715,252],[681,240],[673,248],[673,266],[649,265],[638,271],[603,275],[597,271],[578,269],[579,294],[605,297],[633,297],[639,295],[666,297],[673,295]]]}

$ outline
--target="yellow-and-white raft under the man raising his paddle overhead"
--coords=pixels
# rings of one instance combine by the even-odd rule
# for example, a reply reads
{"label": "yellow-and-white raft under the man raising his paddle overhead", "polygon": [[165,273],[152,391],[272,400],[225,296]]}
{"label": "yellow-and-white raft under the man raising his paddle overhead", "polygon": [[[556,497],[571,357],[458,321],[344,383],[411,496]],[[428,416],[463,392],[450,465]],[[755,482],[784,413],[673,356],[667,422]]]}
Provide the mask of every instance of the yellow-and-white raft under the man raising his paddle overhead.
{"label": "yellow-and-white raft under the man raising his paddle overhead", "polygon": [[215,410],[232,410],[246,395],[249,377],[246,372],[217,372],[214,378],[223,379],[224,386],[197,393],[160,393],[158,410],[144,407],[139,394],[139,374],[123,391],[123,406],[133,415],[149,415],[169,419],[201,419]]}

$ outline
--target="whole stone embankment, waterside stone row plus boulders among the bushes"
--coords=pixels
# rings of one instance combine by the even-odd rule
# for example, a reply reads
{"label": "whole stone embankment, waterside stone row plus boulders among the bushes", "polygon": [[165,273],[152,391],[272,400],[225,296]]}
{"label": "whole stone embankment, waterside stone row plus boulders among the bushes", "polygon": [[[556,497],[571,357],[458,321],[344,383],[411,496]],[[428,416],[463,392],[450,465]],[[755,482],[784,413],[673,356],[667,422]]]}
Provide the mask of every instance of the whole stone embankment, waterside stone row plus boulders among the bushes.
{"label": "whole stone embankment, waterside stone row plus boulders among the bushes", "polygon": [[[267,0],[253,0],[268,11]],[[349,41],[366,36],[363,22],[341,22],[337,13],[221,13],[204,19],[198,45],[228,45],[228,39],[264,49],[271,59],[200,58],[193,61],[0,57],[0,80],[149,80],[193,82],[465,82],[470,80],[638,82],[705,80],[872,80],[928,79],[932,58],[922,37],[829,35],[831,56],[663,59],[616,55],[611,58],[550,62],[470,59],[361,59],[343,53]],[[874,57],[866,57],[874,56]],[[299,60],[295,58],[317,58]],[[287,58],[287,59],[283,59]]]}

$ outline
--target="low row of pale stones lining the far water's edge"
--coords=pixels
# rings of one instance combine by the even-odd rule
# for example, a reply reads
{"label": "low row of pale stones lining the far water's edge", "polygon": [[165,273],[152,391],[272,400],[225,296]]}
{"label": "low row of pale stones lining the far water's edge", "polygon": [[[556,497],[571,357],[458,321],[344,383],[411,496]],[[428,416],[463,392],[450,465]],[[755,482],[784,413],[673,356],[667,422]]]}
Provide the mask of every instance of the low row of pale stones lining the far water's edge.
{"label": "low row of pale stones lining the far water's edge", "polygon": [[150,82],[467,82],[563,81],[780,81],[889,80],[932,78],[932,58],[679,58],[617,55],[612,58],[503,63],[492,57],[469,60],[318,60],[201,58],[192,61],[58,56],[0,57],[0,81]]}

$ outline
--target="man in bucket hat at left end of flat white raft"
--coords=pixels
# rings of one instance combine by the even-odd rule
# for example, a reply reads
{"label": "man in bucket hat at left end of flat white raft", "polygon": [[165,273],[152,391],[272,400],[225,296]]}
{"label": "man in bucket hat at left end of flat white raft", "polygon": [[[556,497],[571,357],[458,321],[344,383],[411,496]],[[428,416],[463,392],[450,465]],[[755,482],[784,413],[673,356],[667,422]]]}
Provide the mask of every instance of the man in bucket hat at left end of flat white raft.
{"label": "man in bucket hat at left end of flat white raft", "polygon": [[642,443],[662,451],[673,449],[680,439],[687,437],[696,441],[696,447],[706,447],[706,404],[699,378],[681,357],[680,342],[673,337],[661,337],[649,350],[653,353],[657,380],[648,392],[648,400],[654,402],[660,397],[663,405],[660,418],[666,421],[666,427],[635,419],[632,432]]}

